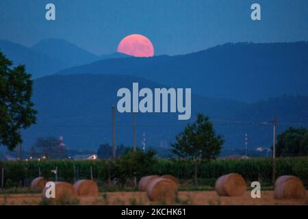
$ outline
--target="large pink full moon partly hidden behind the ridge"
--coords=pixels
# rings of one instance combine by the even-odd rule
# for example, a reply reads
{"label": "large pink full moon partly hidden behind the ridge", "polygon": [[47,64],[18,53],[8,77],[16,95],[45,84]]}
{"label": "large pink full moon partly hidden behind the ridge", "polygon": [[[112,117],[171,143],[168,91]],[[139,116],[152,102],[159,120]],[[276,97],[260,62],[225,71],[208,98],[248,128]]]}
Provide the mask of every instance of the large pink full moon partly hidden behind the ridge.
{"label": "large pink full moon partly hidden behind the ridge", "polygon": [[131,34],[123,38],[118,44],[117,51],[136,57],[152,57],[154,55],[151,40],[140,34]]}

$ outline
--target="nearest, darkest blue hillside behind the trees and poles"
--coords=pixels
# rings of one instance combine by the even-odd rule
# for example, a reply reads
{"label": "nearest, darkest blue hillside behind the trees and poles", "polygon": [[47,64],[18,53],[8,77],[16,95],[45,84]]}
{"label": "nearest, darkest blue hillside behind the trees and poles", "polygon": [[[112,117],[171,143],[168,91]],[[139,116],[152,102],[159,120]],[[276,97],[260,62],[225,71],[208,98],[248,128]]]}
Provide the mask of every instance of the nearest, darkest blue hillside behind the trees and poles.
{"label": "nearest, darkest blue hillside behind the trees and poles", "polygon": [[[64,135],[69,149],[96,150],[101,143],[112,142],[112,104],[117,103],[119,88],[130,88],[139,82],[140,88],[165,86],[128,75],[51,75],[34,80],[34,103],[38,123],[23,131],[26,149],[39,136]],[[210,116],[216,131],[226,140],[224,149],[244,147],[244,133],[248,133],[248,147],[272,144],[272,121],[278,117],[277,129],[290,125],[308,124],[308,97],[281,96],[257,103],[242,103],[229,99],[192,96],[192,119],[177,120],[177,114],[138,114],[137,142],[146,134],[146,146],[159,151],[168,150],[170,142],[197,112]],[[132,144],[132,115],[116,112],[116,142]]]}

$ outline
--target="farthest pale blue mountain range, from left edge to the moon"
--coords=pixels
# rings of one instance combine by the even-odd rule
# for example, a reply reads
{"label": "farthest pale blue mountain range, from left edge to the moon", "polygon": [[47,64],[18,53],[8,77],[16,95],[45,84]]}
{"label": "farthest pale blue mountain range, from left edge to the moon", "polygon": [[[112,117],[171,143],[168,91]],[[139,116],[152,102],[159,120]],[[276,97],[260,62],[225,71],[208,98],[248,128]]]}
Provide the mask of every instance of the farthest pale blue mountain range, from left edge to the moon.
{"label": "farthest pale blue mountain range, from left edge to the moon", "polygon": [[0,40],[0,51],[12,60],[14,65],[25,64],[27,72],[31,73],[34,79],[52,75],[71,66],[97,60],[129,57],[129,55],[122,53],[94,55],[61,39],[41,40],[31,48],[8,40]]}

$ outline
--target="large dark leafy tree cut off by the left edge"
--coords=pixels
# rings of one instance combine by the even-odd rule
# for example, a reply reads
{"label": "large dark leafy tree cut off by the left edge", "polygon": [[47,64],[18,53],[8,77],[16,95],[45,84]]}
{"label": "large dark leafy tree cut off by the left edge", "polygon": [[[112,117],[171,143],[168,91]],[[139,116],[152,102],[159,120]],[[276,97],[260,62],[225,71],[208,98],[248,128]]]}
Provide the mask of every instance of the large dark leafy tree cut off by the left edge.
{"label": "large dark leafy tree cut off by the left edge", "polygon": [[25,73],[25,66],[12,68],[0,51],[0,145],[10,151],[23,142],[21,129],[36,123],[31,96],[31,75]]}

